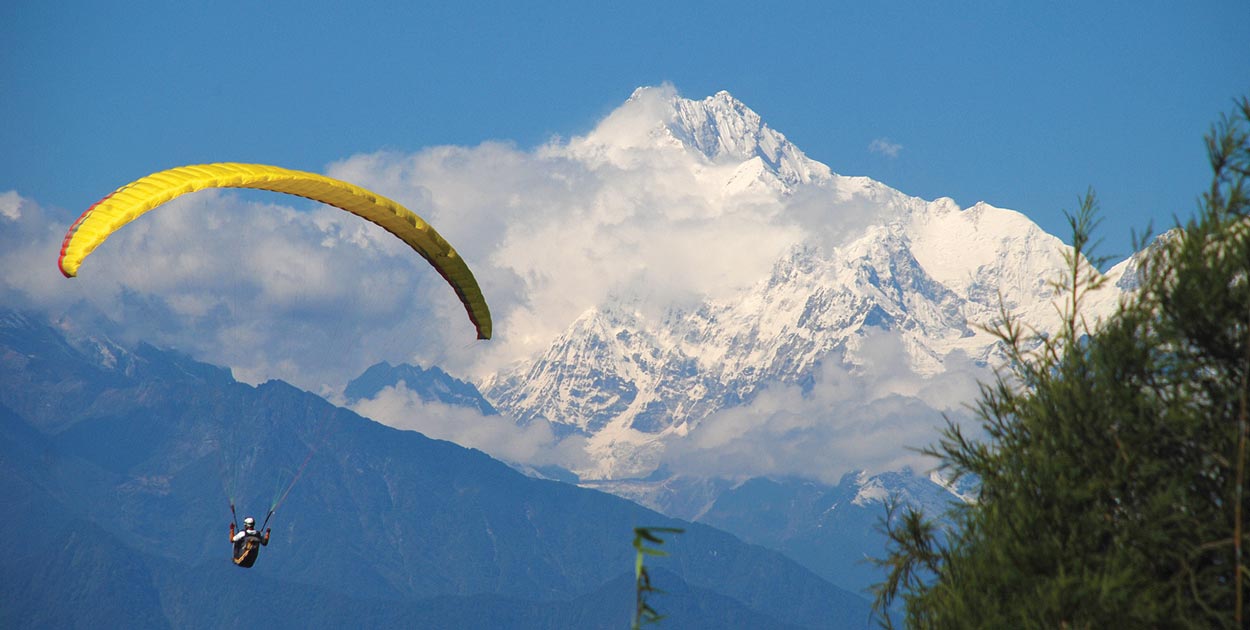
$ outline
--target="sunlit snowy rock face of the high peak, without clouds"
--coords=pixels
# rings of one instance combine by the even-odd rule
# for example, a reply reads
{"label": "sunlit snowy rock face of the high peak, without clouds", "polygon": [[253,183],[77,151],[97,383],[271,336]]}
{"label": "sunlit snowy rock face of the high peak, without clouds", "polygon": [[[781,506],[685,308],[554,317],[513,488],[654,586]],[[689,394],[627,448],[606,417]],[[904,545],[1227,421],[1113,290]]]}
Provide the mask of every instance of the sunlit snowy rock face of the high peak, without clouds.
{"label": "sunlit snowy rock face of the high peak, without clouds", "polygon": [[[1039,330],[1056,322],[1049,281],[1066,248],[1058,238],[1012,210],[960,209],[836,175],[729,92],[696,101],[639,89],[566,155],[625,171],[685,169],[702,188],[684,194],[708,195],[712,208],[749,199],[804,234],[768,278],[730,298],[660,316],[628,296],[594,305],[540,355],[480,384],[521,424],[542,419],[588,436],[599,464],[578,470],[582,479],[645,476],[666,442],[719,411],[778,384],[810,392],[826,364],[855,371],[879,361],[866,345],[882,335],[912,375],[929,378],[996,365],[985,328],[1000,304]],[[1098,314],[1119,291],[1095,300]]]}

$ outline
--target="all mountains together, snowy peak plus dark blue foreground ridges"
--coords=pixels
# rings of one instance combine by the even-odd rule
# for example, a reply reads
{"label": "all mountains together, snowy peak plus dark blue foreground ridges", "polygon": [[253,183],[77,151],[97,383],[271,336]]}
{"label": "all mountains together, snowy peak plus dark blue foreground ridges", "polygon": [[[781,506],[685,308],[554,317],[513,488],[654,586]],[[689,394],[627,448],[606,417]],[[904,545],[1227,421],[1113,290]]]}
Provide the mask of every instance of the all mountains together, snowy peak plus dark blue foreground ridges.
{"label": "all mountains together, snowy peak plus dark blue foreground ridges", "polygon": [[[154,628],[251,614],[279,626],[612,626],[629,612],[629,526],[678,525],[688,534],[656,566],[680,594],[662,600],[676,626],[862,626],[884,501],[941,515],[975,496],[975,480],[950,484],[909,448],[944,416],[968,419],[976,382],[1001,364],[988,329],[1004,314],[1055,325],[1051,280],[1070,249],[1012,210],[839,175],[728,92],[639,89],[540,154],[634,182],[630,202],[649,212],[684,204],[690,232],[744,218],[776,228],[734,244],[779,254],[706,292],[606,290],[472,382],[379,362],[329,401],[6,312],[5,499],[56,525],[5,562],[0,624],[75,625],[91,608],[109,625]],[[1135,259],[1106,270],[1085,314],[1110,314],[1134,270]],[[381,409],[369,402],[396,389],[465,410],[452,421],[549,428],[578,456],[505,465],[331,404]],[[225,499],[268,506],[292,478],[275,516],[282,545],[246,575],[221,569]],[[209,596],[221,580],[249,586]],[[69,592],[82,606],[59,614]]]}

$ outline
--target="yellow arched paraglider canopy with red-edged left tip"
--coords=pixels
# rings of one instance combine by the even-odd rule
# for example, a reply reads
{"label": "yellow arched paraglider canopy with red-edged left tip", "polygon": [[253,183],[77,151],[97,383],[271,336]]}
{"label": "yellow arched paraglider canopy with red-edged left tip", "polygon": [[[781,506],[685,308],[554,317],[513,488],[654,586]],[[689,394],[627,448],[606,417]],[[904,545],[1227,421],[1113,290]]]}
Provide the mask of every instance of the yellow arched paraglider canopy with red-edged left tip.
{"label": "yellow arched paraglider canopy with red-edged left tip", "polygon": [[246,188],[299,195],[368,219],[399,236],[451,285],[464,302],[478,339],[490,339],[490,309],[469,265],[420,216],[390,199],[315,172],[262,164],[201,164],[154,172],[96,201],[74,221],[61,244],[59,265],[66,278],[122,225],[178,196],[212,188]]}

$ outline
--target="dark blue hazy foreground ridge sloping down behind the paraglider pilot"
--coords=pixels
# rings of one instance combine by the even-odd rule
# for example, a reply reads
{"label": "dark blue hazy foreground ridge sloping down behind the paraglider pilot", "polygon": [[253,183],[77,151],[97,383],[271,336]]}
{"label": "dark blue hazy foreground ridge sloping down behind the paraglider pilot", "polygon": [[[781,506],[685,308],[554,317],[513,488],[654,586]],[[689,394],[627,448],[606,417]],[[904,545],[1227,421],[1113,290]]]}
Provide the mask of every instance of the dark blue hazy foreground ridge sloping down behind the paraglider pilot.
{"label": "dark blue hazy foreground ridge sloping down behind the paraglider pilot", "polygon": [[[649,561],[681,628],[869,624],[861,598],[710,526],[12,311],[0,474],[9,628],[619,628],[632,526],[685,530]],[[251,570],[229,561],[234,506],[276,506]]]}

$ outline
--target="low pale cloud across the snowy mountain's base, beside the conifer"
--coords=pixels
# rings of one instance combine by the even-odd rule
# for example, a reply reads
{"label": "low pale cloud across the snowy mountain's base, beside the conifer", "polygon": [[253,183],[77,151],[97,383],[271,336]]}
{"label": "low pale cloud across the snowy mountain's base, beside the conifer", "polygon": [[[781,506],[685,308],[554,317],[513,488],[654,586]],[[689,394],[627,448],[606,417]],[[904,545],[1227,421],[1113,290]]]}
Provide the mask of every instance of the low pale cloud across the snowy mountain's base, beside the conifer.
{"label": "low pale cloud across the snowy mountain's base, beside the conifer", "polygon": [[824,364],[808,391],[794,385],[768,388],[746,405],[702,420],[671,440],[664,461],[675,472],[748,479],[801,476],[836,484],[846,472],[879,472],[935,461],[910,448],[938,439],[942,414],[966,419],[978,379],[988,372],[961,356],[949,356],[948,371],[915,375],[894,332],[865,340],[862,368]]}

